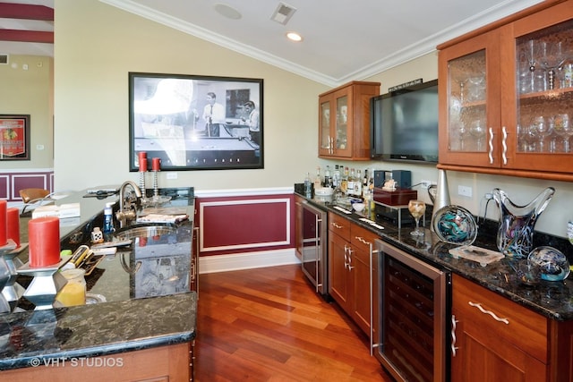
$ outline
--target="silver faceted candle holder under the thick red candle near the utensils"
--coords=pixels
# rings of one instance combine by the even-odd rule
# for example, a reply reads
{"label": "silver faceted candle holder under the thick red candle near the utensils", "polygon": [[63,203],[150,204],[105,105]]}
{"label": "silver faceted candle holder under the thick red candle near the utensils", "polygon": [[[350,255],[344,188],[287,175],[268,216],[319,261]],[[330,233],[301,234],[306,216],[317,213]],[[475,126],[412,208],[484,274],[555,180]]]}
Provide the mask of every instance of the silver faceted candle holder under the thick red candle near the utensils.
{"label": "silver faceted candle holder under the thick red candle near the utensils", "polygon": [[65,277],[58,272],[71,258],[61,259],[59,263],[49,267],[30,267],[26,263],[18,268],[18,274],[33,276],[30,285],[23,296],[32,302],[36,308],[34,310],[47,310],[54,308],[56,294],[67,283]]}

